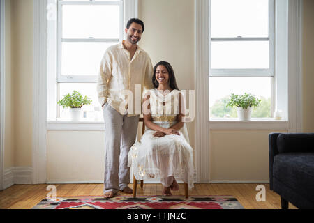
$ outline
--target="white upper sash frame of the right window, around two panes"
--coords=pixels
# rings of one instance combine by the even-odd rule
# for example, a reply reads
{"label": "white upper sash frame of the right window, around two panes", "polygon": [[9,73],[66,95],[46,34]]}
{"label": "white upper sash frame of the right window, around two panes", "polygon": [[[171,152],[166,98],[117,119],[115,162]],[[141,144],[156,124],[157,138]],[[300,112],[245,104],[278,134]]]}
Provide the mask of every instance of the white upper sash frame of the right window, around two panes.
{"label": "white upper sash frame of the right window, around two panes", "polygon": [[[209,15],[209,54],[211,42],[222,41],[269,41],[269,68],[268,69],[212,69],[209,55],[209,77],[269,77],[274,76],[274,0],[269,1],[269,36],[268,37],[234,37],[211,38],[211,15]],[[211,9],[209,9],[211,10]]]}

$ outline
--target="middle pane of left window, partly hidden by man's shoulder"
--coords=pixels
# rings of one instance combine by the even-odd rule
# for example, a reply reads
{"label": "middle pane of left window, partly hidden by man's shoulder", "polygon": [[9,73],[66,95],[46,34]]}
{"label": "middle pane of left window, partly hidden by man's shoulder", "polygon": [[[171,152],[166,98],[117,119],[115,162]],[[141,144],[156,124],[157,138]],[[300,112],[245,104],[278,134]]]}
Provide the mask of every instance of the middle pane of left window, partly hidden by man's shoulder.
{"label": "middle pane of left window, partly hidden by man's shoulder", "polygon": [[98,75],[103,54],[113,44],[63,42],[61,75]]}

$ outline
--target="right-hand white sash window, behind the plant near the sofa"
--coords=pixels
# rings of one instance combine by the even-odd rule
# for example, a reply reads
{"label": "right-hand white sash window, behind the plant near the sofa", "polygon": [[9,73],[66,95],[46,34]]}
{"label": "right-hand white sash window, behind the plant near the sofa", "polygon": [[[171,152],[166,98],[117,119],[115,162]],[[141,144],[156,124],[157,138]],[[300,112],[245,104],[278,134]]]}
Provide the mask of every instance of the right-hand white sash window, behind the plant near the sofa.
{"label": "right-hand white sash window, behind the plant near the sofa", "polygon": [[262,100],[252,118],[274,112],[274,0],[211,0],[209,41],[210,119],[236,118],[231,93]]}

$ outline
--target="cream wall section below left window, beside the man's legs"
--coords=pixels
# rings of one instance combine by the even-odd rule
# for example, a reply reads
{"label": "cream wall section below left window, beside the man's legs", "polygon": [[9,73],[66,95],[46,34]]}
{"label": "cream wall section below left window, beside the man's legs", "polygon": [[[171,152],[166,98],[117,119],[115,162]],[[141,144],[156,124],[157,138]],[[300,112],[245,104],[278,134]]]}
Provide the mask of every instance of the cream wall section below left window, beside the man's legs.
{"label": "cream wall section below left window, beside the man's legs", "polygon": [[48,182],[103,182],[103,131],[49,131],[47,141]]}

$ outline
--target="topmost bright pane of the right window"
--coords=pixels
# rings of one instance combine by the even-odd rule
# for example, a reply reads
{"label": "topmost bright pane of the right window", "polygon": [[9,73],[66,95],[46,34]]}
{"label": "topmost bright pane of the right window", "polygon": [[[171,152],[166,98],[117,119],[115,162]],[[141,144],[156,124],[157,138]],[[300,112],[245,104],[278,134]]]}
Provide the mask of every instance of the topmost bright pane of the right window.
{"label": "topmost bright pane of the right window", "polygon": [[211,37],[268,37],[268,0],[211,0]]}

